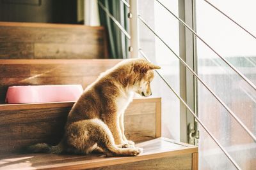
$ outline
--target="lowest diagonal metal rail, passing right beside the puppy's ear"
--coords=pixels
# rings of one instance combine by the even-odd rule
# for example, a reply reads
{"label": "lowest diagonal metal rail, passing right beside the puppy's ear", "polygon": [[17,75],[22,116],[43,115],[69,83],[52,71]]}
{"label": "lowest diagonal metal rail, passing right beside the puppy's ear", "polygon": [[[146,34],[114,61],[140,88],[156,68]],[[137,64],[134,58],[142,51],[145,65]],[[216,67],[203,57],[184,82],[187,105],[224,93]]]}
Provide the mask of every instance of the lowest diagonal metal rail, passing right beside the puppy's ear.
{"label": "lowest diagonal metal rail, passing right beside the puppy's ear", "polygon": [[[143,53],[143,51],[140,49],[139,52],[141,53],[141,55],[148,60],[148,57],[145,55],[145,53]],[[148,60],[150,61],[150,60]],[[162,80],[164,81],[164,83],[166,83],[166,85],[172,90],[172,92],[175,94],[176,97],[179,98],[179,100],[186,106],[186,108],[190,111],[190,113],[192,113],[192,115],[195,117],[195,119],[198,121],[198,123],[200,125],[202,125],[202,127],[205,129],[205,131],[209,134],[209,136],[211,136],[211,138],[214,140],[214,142],[220,147],[220,149],[225,153],[225,155],[228,157],[228,159],[232,162],[232,164],[234,164],[234,166],[237,169],[241,169],[241,167],[239,167],[237,165],[237,163],[234,161],[234,159],[232,159],[232,157],[228,154],[228,152],[225,150],[225,148],[223,148],[223,146],[218,142],[218,140],[211,134],[211,132],[207,129],[207,127],[201,122],[201,120],[196,116],[195,112],[193,110],[191,110],[191,108],[189,108],[188,104],[186,104],[186,102],[179,96],[179,94],[177,94],[177,92],[175,92],[175,90],[172,88],[172,86],[165,80],[165,78],[157,71],[155,70],[156,73],[162,78]]]}

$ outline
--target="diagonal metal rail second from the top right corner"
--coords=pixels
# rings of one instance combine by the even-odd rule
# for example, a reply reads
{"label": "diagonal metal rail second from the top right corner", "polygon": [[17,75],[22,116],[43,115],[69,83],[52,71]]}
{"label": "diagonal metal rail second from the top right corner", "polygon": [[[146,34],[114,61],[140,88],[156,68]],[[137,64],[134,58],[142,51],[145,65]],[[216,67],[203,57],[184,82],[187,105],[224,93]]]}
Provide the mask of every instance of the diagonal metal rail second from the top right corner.
{"label": "diagonal metal rail second from the top right corner", "polygon": [[208,46],[208,48],[210,48],[212,50],[212,52],[216,53],[216,55],[218,55],[228,66],[230,66],[237,74],[239,74],[239,76],[241,78],[243,78],[243,80],[246,81],[254,90],[256,90],[256,85],[254,85],[252,83],[252,81],[250,81],[248,78],[246,78],[246,76],[244,76],[243,73],[241,73],[239,70],[237,70],[236,67],[234,67],[232,64],[230,64],[230,62],[228,62],[228,60],[226,60],[218,52],[216,52],[208,43],[206,43],[204,41],[204,39],[202,39],[200,36],[198,36],[198,34],[196,34],[196,32],[193,29],[191,29],[191,27],[189,27],[185,22],[183,22],[179,17],[177,17],[177,15],[175,15],[172,11],[170,11],[168,8],[166,8],[166,6],[164,6],[164,4],[162,4],[159,0],[156,0],[156,1],[159,4],[161,4],[161,6],[163,6],[169,13],[171,13],[173,15],[173,17],[177,18],[177,20],[179,20],[179,22],[182,25],[187,27],[189,29],[189,31],[191,31],[197,38],[199,38],[206,46]]}

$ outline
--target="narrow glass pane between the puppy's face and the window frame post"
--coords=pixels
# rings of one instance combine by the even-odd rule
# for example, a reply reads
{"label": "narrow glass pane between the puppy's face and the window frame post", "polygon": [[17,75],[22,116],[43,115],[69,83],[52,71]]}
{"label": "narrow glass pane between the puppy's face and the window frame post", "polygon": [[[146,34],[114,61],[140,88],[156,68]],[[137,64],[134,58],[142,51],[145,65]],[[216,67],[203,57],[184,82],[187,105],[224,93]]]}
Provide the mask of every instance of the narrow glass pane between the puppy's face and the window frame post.
{"label": "narrow glass pane between the puppy's face and the window frame post", "polygon": [[[178,1],[161,1],[170,10],[179,14]],[[139,1],[142,18],[179,55],[179,22],[156,1]],[[139,20],[140,47],[152,62],[162,68],[164,78],[179,93],[179,60],[164,44]],[[156,75],[152,86],[153,96],[162,97],[162,135],[180,140],[180,104],[173,92]]]}

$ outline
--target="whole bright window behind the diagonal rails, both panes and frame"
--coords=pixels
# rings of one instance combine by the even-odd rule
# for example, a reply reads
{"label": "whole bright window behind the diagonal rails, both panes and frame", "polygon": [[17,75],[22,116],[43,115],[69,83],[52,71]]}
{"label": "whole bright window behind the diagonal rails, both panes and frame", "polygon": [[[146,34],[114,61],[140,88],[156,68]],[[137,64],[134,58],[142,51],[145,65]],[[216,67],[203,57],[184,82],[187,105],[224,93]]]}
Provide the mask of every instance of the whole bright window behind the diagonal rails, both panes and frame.
{"label": "whole bright window behind the diagonal rails, both panes and frame", "polygon": [[[161,0],[160,2],[184,20],[189,27],[196,30],[198,35],[221,57],[228,60],[232,66],[256,84],[256,38],[250,36],[205,0]],[[256,16],[255,1],[210,2],[256,35],[256,24],[252,22]],[[256,134],[255,89],[225,64],[220,56],[205,43],[193,36],[188,28],[185,29],[184,25],[181,25],[157,1],[140,0],[138,5],[141,17],[167,45],[164,45],[140,20],[140,48],[150,60],[162,66],[163,69],[159,72],[188,103],[188,106],[198,113],[200,120],[237,165],[242,169],[253,169],[256,162],[255,141],[209,90],[200,81],[196,81],[188,69],[184,69],[173,52],[186,60],[190,67],[196,67],[199,77],[253,135]],[[173,52],[168,49],[168,46]],[[188,123],[193,119],[191,113],[182,108],[184,105],[160,78],[156,79],[154,87],[156,95],[163,97],[163,136],[185,141]],[[234,169],[232,162],[201,126],[199,131],[200,169]]]}

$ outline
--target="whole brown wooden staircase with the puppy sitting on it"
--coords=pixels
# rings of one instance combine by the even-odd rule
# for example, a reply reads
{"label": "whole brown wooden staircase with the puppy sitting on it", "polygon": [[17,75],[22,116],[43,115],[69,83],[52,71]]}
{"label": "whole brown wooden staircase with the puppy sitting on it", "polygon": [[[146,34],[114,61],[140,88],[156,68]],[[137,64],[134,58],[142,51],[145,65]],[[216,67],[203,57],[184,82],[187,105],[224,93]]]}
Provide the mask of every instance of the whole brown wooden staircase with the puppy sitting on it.
{"label": "whole brown wooden staircase with the puppy sitting on it", "polygon": [[[38,28],[40,27],[40,29]],[[58,30],[70,32],[72,35],[58,34]],[[54,36],[47,36],[47,31]],[[30,43],[60,43],[73,37],[71,43],[88,45],[88,41],[100,38],[102,28],[97,29],[95,38],[93,27],[58,24],[10,24],[0,22],[0,169],[198,169],[198,150],[196,146],[179,143],[171,139],[161,138],[161,98],[138,98],[125,111],[125,134],[128,139],[136,141],[136,146],[142,147],[144,153],[136,157],[104,157],[104,155],[54,155],[54,154],[21,154],[20,148],[38,142],[56,145],[63,134],[63,127],[68,111],[74,101],[61,103],[35,104],[5,104],[6,90],[12,85],[46,85],[46,84],[82,84],[86,87],[106,69],[114,66],[120,60],[113,59],[66,59],[65,50],[61,59],[49,56],[19,55],[12,45]],[[14,37],[10,32],[15,32]],[[26,31],[26,30],[30,31]],[[82,32],[79,32],[82,29]],[[46,30],[46,31],[45,31]],[[69,31],[68,31],[69,30]],[[85,31],[84,31],[85,30]],[[86,31],[88,30],[88,31]],[[5,33],[4,33],[5,31]],[[20,38],[20,32],[26,32],[29,38]],[[31,35],[32,33],[33,35]],[[39,33],[38,33],[39,32]],[[42,33],[43,32],[43,33]],[[49,33],[50,34],[50,33]],[[69,33],[68,33],[69,34]],[[74,40],[77,35],[86,34],[86,41]],[[41,37],[42,36],[42,37]],[[47,38],[45,40],[45,38]],[[56,40],[57,39],[57,40]],[[79,39],[79,37],[78,37]],[[93,40],[95,42],[101,42]],[[66,46],[69,43],[65,41]],[[106,46],[92,49],[105,49]],[[58,51],[60,45],[53,48]],[[81,47],[82,48],[82,47]],[[35,48],[33,48],[35,50]],[[60,50],[63,48],[60,48]],[[70,48],[68,52],[72,52]],[[26,49],[24,49],[26,51]],[[33,52],[34,54],[36,52]],[[42,52],[45,53],[45,52]],[[99,58],[100,52],[95,58]],[[105,53],[105,52],[104,52]],[[12,54],[12,55],[11,55]],[[105,53],[106,54],[106,53]],[[94,55],[94,54],[93,54]],[[53,56],[53,57],[52,57]],[[64,56],[64,57],[63,57]],[[77,55],[81,58],[81,53]],[[2,57],[2,58],[1,58]],[[92,56],[90,56],[92,57]],[[106,57],[104,55],[104,57]],[[21,58],[21,59],[20,59]],[[46,58],[46,59],[45,59]],[[83,57],[82,57],[83,58]],[[103,57],[102,57],[103,58]]]}

